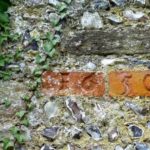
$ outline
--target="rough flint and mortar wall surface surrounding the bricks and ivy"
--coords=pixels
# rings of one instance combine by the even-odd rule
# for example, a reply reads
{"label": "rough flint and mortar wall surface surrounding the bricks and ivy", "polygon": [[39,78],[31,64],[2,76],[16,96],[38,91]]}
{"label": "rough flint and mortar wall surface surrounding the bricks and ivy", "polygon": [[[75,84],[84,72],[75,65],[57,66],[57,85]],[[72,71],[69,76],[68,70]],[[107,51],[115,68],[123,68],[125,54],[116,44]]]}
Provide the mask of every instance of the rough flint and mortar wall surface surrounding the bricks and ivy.
{"label": "rough flint and mortar wall surface surrounding the bricks and ivy", "polygon": [[[107,94],[103,97],[80,94],[49,97],[43,94],[41,87],[34,91],[33,73],[37,67],[36,56],[40,55],[41,61],[47,58],[44,52],[47,33],[56,33],[63,39],[55,47],[59,55],[48,58],[48,62],[42,62],[41,67],[48,66],[52,72],[102,72],[106,93],[109,92],[110,72],[149,70],[150,1],[11,2],[13,5],[8,9],[10,33],[13,38],[18,33],[20,38],[5,42],[0,55],[7,52],[14,55],[20,50],[22,57],[0,69],[0,76],[5,69],[13,72],[11,80],[0,81],[0,150],[3,149],[4,137],[13,140],[9,130],[14,125],[25,131],[28,139],[23,145],[15,143],[16,150],[149,150],[149,97],[136,93],[134,98],[110,97]],[[62,2],[69,5],[67,11],[60,13],[56,5],[61,4],[61,9],[66,9]],[[130,10],[130,15],[124,15],[126,10]],[[84,21],[88,24],[82,26],[81,20],[87,12],[89,16]],[[69,15],[62,19],[66,13]],[[55,23],[58,25],[54,27]],[[2,62],[0,60],[0,65]],[[80,81],[81,78],[77,79]],[[138,75],[138,79],[139,82],[133,81],[133,89],[137,90],[138,83],[142,85],[143,76]],[[118,83],[120,78],[115,77],[114,80]],[[125,87],[127,81],[123,83]],[[149,89],[148,78],[145,85]],[[90,87],[89,84],[86,87]],[[143,86],[142,89],[139,87],[138,91],[143,91]],[[117,92],[120,90],[123,91],[121,88]],[[26,115],[29,127],[18,126],[21,121],[16,116],[16,112],[27,109],[27,103],[21,98],[26,93],[34,104]],[[5,98],[12,102],[8,108]],[[59,131],[55,127],[59,127]]]}

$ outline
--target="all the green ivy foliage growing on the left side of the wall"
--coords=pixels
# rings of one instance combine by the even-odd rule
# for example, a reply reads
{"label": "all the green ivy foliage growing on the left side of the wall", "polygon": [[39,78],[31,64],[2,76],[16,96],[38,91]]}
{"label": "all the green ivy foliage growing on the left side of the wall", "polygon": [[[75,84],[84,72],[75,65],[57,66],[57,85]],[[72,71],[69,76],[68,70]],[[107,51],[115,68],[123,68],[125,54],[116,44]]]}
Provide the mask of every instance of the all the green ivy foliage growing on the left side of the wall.
{"label": "all the green ivy foliage growing on the left side of the wall", "polygon": [[[32,95],[25,95],[22,97],[22,100],[25,103],[25,108],[16,113],[18,122],[15,126],[10,129],[11,139],[3,138],[3,150],[14,150],[16,144],[24,144],[26,137],[24,132],[21,130],[21,126],[29,126],[28,112],[32,111],[35,105],[32,103],[31,98],[33,96],[40,96],[38,92],[39,84],[41,83],[41,74],[44,70],[50,69],[51,59],[57,54],[57,47],[61,42],[61,33],[62,25],[61,21],[68,15],[68,5],[71,3],[71,0],[63,0],[58,6],[56,6],[56,13],[60,16],[59,19],[51,20],[53,27],[53,33],[49,32],[44,37],[43,52],[39,52],[36,55],[36,69],[34,70],[34,81],[29,83],[29,90],[32,90]],[[0,46],[8,39],[11,41],[17,40],[18,35],[10,35],[10,25],[9,25],[9,16],[6,13],[8,7],[10,6],[9,0],[0,0]],[[15,54],[0,54],[0,79],[9,79],[12,75],[12,71],[7,69],[7,66],[17,62],[21,59],[20,52]],[[4,101],[4,105],[8,108],[11,105],[9,100]],[[16,119],[17,119],[16,118]]]}

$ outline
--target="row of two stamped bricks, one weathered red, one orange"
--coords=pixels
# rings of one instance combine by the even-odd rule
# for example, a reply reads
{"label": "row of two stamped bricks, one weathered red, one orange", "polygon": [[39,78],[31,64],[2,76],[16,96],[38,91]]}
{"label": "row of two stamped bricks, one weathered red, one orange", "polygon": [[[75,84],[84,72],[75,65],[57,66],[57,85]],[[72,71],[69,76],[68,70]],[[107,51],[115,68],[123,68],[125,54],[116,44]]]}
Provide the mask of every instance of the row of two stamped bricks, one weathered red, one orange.
{"label": "row of two stamped bricks, one weathered red, one orange", "polygon": [[[50,72],[42,75],[42,91],[50,96],[83,95],[100,97],[105,92],[103,73]],[[150,96],[150,71],[120,71],[108,74],[111,97]]]}

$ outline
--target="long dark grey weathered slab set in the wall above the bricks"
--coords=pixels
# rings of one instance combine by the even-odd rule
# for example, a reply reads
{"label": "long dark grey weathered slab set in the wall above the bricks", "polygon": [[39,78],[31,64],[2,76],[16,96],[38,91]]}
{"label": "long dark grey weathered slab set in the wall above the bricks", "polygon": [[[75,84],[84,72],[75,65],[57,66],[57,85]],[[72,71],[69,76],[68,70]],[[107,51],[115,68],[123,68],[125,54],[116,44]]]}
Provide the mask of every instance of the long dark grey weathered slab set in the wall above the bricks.
{"label": "long dark grey weathered slab set in the wall above the bricks", "polygon": [[149,28],[75,31],[63,40],[63,50],[76,55],[147,54]]}

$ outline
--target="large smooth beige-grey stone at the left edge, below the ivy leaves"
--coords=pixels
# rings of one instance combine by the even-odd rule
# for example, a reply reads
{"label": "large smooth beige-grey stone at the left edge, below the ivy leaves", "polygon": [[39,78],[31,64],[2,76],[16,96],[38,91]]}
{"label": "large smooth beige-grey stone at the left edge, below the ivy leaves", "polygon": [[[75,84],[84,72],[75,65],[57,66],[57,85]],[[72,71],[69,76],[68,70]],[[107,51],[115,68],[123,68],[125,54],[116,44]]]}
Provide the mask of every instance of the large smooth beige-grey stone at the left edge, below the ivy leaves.
{"label": "large smooth beige-grey stone at the left edge, below the ivy leaves", "polygon": [[[24,108],[25,105],[21,97],[27,93],[29,92],[22,83],[16,81],[0,81],[0,115],[11,118],[17,111]],[[4,106],[5,100],[11,102],[11,107],[6,108]]]}

